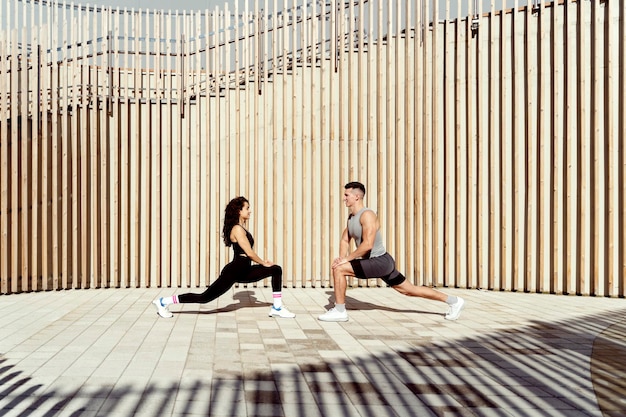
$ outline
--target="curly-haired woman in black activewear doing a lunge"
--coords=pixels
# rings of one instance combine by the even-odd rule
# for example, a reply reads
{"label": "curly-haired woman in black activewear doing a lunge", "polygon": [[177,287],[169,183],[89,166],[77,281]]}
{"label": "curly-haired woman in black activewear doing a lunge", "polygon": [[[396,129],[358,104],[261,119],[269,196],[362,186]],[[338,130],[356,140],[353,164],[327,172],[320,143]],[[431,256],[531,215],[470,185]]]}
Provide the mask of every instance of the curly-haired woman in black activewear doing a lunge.
{"label": "curly-haired woman in black activewear doing a lunge", "polygon": [[[254,238],[246,230],[246,222],[250,219],[250,204],[245,197],[230,200],[224,215],[222,236],[226,246],[232,246],[233,260],[228,263],[220,276],[202,294],[181,294],[171,297],[161,297],[152,303],[157,308],[157,314],[163,318],[173,317],[168,310],[170,304],[178,303],[208,303],[228,291],[236,282],[249,284],[263,278],[272,277],[272,295],[274,303],[270,309],[270,317],[293,318],[296,315],[282,305],[281,290],[283,284],[283,269],[272,261],[263,260],[252,249]],[[256,264],[253,265],[252,262]]]}

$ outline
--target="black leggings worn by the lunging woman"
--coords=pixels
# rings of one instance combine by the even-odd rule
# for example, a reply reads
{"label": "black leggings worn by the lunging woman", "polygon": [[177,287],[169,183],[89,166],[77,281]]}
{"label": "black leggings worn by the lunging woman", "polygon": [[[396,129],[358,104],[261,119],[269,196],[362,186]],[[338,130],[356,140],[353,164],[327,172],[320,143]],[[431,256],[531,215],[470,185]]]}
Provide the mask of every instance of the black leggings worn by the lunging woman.
{"label": "black leggings worn by the lunging woman", "polygon": [[187,293],[178,296],[179,303],[208,303],[228,291],[235,283],[250,284],[272,277],[272,291],[280,292],[283,285],[283,269],[278,265],[252,265],[250,258],[235,256],[220,276],[202,294]]}

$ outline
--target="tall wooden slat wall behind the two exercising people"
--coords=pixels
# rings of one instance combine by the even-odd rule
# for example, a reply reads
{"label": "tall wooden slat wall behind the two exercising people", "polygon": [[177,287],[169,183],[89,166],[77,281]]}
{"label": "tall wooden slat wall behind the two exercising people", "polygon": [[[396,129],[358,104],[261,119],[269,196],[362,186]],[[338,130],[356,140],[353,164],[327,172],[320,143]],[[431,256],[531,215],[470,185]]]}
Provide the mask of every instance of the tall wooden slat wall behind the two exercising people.
{"label": "tall wooden slat wall behind the two exercising people", "polygon": [[361,180],[416,284],[626,296],[626,6],[513,3],[5,0],[0,293],[204,287],[238,195],[329,286]]}

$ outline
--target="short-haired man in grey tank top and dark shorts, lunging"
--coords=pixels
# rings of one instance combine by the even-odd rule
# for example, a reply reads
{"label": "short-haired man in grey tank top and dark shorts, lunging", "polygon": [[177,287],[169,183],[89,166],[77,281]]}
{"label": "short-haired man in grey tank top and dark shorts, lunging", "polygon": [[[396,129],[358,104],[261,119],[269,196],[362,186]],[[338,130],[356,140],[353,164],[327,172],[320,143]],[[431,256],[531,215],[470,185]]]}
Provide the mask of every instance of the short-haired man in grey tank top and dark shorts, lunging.
{"label": "short-haired man in grey tank top and dark shorts, lunging", "polygon": [[[442,301],[449,305],[447,320],[461,315],[465,301],[461,297],[447,295],[435,289],[411,284],[396,269],[395,260],[387,253],[380,234],[380,222],[376,213],[364,206],[365,186],[360,182],[345,185],[343,201],[350,210],[348,225],[341,236],[339,257],[333,261],[332,274],[335,284],[335,307],[319,316],[321,321],[348,321],[346,311],[346,286],[348,276],[357,278],[382,278],[401,294]],[[356,249],[349,253],[350,240]]]}

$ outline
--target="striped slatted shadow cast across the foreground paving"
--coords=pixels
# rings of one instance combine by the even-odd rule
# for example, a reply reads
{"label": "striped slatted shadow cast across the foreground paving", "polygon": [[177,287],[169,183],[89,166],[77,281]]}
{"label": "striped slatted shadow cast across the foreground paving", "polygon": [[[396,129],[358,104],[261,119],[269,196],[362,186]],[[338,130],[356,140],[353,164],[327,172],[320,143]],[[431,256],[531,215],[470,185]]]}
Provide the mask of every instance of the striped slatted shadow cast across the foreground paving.
{"label": "striped slatted shadow cast across the foreground paving", "polygon": [[[35,384],[0,355],[0,415],[572,417],[597,415],[599,404],[617,417],[626,415],[625,334],[626,321],[588,316],[272,373],[73,392]],[[581,338],[589,343],[572,343]]]}

